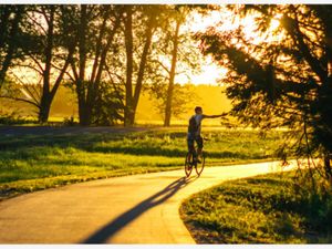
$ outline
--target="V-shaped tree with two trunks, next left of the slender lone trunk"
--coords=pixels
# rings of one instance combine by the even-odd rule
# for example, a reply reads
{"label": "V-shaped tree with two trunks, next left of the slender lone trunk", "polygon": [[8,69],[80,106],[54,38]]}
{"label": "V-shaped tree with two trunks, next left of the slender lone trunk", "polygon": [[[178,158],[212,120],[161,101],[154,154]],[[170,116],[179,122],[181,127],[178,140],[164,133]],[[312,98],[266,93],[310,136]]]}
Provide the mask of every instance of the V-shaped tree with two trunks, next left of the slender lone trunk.
{"label": "V-shaped tree with two trunks, next left of the slender lone trunk", "polygon": [[[136,108],[144,83],[151,52],[152,38],[156,30],[157,15],[160,6],[126,6],[124,20],[125,51],[126,51],[126,80],[125,80],[125,126],[134,125]],[[133,23],[133,18],[137,20]],[[138,22],[142,20],[142,22]],[[143,28],[143,30],[142,30]],[[137,40],[134,39],[134,31]],[[141,42],[138,41],[141,40]],[[136,44],[135,44],[136,42]],[[142,48],[137,48],[137,43]],[[136,48],[135,48],[136,46]],[[139,55],[134,52],[141,52]],[[136,56],[135,56],[136,55]],[[138,58],[135,60],[135,58]],[[137,63],[137,65],[135,65]],[[135,70],[136,69],[136,70]],[[136,81],[135,81],[136,79]]]}

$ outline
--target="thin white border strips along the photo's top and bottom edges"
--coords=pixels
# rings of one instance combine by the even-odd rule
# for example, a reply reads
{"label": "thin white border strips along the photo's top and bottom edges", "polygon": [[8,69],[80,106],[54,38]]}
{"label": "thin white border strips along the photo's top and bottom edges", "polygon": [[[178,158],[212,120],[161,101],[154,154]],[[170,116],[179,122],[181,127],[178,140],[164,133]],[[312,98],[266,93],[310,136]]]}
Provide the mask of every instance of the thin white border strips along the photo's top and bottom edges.
{"label": "thin white border strips along the photo's top and bottom edges", "polygon": [[[0,0],[0,4],[332,4],[332,0]],[[0,249],[332,249],[332,245],[1,245]]]}

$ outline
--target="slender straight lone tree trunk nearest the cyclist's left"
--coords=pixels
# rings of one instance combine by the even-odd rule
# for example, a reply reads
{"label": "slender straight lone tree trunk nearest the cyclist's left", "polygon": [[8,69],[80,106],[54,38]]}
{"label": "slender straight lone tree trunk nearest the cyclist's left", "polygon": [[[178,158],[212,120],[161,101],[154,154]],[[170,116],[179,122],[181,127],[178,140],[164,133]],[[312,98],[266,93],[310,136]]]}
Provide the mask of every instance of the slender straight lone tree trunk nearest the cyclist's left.
{"label": "slender straight lone tree trunk nearest the cyclist's left", "polygon": [[172,68],[169,72],[169,84],[167,90],[167,98],[166,98],[166,107],[165,107],[165,121],[164,126],[170,125],[170,116],[172,116],[172,100],[174,92],[174,79],[175,79],[175,70],[177,62],[177,49],[178,49],[178,33],[179,33],[180,21],[176,22],[175,35],[173,40],[173,52],[172,52]]}

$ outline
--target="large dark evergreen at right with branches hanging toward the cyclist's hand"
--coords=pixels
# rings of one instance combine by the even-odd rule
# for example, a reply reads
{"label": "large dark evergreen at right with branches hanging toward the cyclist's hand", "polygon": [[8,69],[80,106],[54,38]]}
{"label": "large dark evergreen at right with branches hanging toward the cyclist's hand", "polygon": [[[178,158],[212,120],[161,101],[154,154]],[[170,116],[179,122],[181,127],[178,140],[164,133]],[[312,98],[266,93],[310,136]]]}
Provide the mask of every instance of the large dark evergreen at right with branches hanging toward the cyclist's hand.
{"label": "large dark evergreen at right with branches hanging toward the cyclist's hand", "polygon": [[[308,156],[308,162],[324,157],[322,176],[331,180],[332,8],[287,4],[238,10],[241,17],[255,14],[261,42],[246,37],[243,27],[225,32],[210,28],[197,35],[203,52],[229,69],[231,113],[253,126],[299,131],[295,143],[288,139],[288,145],[297,146],[298,155]],[[273,19],[280,24],[271,31]],[[310,165],[320,172],[314,162]]]}

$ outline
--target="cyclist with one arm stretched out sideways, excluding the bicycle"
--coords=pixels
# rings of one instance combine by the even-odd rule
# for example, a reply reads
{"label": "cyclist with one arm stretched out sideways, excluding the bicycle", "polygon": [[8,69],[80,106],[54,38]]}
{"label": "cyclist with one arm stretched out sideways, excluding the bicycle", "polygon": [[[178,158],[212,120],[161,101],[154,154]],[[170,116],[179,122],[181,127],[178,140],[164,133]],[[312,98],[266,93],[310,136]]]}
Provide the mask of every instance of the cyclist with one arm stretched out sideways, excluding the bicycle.
{"label": "cyclist with one arm stretched out sideways, excluding the bicycle", "polygon": [[[204,118],[217,118],[221,117],[224,114],[220,115],[205,115],[203,114],[203,108],[200,106],[195,107],[195,115],[193,115],[189,120],[188,125],[188,136],[187,136],[187,144],[188,151],[195,155],[194,143],[197,143],[197,162],[200,162],[201,151],[203,151],[203,137],[200,136],[200,126],[201,121]],[[195,155],[196,157],[196,155]]]}

